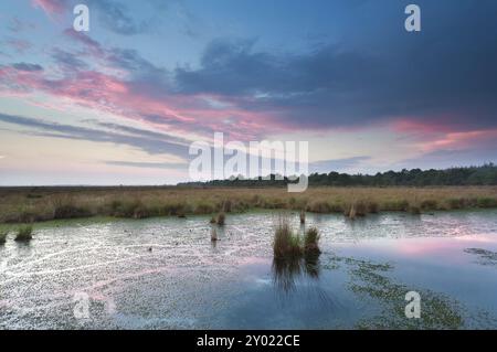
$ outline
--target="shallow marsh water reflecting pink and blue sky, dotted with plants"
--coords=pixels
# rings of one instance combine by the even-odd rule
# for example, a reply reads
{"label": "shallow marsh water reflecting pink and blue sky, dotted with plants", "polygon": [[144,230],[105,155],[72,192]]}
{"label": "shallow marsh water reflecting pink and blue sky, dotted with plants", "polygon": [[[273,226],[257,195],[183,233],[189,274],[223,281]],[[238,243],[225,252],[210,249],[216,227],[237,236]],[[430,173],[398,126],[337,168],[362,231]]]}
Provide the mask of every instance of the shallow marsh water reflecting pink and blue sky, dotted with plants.
{"label": "shallow marsh water reflecting pink and blue sky, dotted with plants", "polygon": [[273,212],[229,214],[216,243],[205,216],[47,223],[0,246],[0,329],[495,329],[496,215],[307,214],[322,253],[289,262]]}

